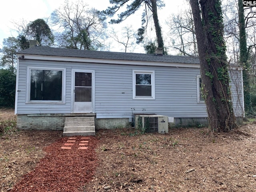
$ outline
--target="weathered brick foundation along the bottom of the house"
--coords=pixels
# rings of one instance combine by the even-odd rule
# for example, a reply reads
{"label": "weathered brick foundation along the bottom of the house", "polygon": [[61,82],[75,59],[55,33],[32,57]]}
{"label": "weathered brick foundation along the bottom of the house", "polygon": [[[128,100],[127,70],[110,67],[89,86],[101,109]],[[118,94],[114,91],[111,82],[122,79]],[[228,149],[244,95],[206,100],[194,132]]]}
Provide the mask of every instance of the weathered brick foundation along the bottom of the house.
{"label": "weathered brick foundation along the bottom of the house", "polygon": [[[18,114],[17,128],[22,130],[63,130],[65,117],[94,116],[96,114]],[[207,118],[174,118],[169,128],[208,126]],[[95,129],[129,128],[129,118],[95,118]]]}

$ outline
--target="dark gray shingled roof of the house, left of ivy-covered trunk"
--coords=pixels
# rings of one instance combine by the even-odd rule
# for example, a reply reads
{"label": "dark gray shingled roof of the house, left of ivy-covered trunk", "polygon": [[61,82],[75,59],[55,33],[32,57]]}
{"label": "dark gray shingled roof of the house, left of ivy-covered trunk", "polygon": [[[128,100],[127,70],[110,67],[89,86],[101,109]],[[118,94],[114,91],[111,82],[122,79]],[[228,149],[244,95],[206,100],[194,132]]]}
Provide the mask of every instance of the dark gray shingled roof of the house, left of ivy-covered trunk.
{"label": "dark gray shingled roof of the house, left of ivy-covered trunk", "polygon": [[130,60],[130,61],[146,61],[146,62],[168,62],[168,63],[186,63],[199,64],[198,57],[189,56],[173,56],[173,55],[154,55],[141,53],[122,53],[107,51],[91,51],[77,50],[67,48],[52,48],[44,46],[35,46],[25,50],[21,50],[18,54],[44,55],[44,56],[65,56],[75,58],[94,58],[109,60]]}

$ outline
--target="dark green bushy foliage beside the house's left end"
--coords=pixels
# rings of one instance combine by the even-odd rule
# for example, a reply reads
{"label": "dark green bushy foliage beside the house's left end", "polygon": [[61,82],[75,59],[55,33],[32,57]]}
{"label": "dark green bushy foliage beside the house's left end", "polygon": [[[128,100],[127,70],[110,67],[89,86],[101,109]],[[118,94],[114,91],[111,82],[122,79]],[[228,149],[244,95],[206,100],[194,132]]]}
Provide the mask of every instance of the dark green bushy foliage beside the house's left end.
{"label": "dark green bushy foliage beside the house's left end", "polygon": [[15,102],[16,70],[10,66],[0,69],[0,106],[14,107]]}

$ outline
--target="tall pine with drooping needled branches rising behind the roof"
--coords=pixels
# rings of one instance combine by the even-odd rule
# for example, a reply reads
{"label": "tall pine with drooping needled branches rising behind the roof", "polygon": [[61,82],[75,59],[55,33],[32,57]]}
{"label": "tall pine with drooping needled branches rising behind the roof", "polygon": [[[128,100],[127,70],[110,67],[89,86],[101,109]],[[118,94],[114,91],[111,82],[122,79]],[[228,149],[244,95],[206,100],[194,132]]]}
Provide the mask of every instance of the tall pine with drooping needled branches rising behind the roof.
{"label": "tall pine with drooping needled branches rising behind the roof", "polygon": [[[163,48],[164,54],[166,54],[161,26],[157,14],[157,7],[164,6],[162,0],[110,0],[109,2],[114,6],[108,7],[108,9],[102,11],[102,14],[104,14],[105,17],[113,17],[115,14],[118,14],[118,19],[110,20],[110,23],[112,24],[118,24],[124,21],[126,18],[144,6],[145,9],[142,13],[142,27],[138,29],[137,43],[143,41],[150,17],[153,17],[158,47]],[[126,10],[124,12],[120,12],[124,5],[126,5]]]}

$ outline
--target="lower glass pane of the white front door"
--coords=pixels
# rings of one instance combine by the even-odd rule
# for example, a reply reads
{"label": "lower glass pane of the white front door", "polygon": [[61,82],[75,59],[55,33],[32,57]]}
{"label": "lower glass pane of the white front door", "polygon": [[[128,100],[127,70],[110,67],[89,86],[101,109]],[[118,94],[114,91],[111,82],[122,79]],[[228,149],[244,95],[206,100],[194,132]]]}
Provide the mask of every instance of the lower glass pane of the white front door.
{"label": "lower glass pane of the white front door", "polygon": [[91,87],[76,87],[75,102],[91,102],[92,88]]}

